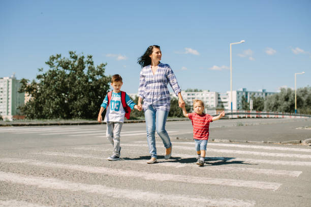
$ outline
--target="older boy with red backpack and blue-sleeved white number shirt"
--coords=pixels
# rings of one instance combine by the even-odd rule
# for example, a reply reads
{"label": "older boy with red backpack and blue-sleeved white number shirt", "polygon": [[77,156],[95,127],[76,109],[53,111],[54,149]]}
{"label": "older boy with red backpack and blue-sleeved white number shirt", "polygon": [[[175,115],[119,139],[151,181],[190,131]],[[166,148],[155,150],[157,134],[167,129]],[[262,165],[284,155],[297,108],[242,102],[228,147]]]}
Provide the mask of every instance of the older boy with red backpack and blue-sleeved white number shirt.
{"label": "older boy with red backpack and blue-sleeved white number shirt", "polygon": [[[122,128],[122,124],[124,121],[124,117],[126,115],[125,107],[122,106],[122,100],[121,100],[121,86],[123,85],[122,78],[120,75],[116,74],[113,75],[111,78],[111,86],[113,88],[113,91],[111,93],[110,100],[108,98],[108,94],[106,95],[105,99],[103,100],[103,103],[101,105],[101,109],[98,115],[97,120],[99,122],[102,121],[102,113],[107,108],[106,116],[104,119],[104,122],[107,122],[107,132],[106,136],[110,143],[113,145],[113,155],[108,157],[107,159],[110,161],[115,161],[120,159],[120,132]],[[137,109],[141,111],[141,109],[135,105],[133,100],[128,96],[128,94],[125,94],[125,102],[131,109]],[[108,105],[108,106],[107,106]]]}

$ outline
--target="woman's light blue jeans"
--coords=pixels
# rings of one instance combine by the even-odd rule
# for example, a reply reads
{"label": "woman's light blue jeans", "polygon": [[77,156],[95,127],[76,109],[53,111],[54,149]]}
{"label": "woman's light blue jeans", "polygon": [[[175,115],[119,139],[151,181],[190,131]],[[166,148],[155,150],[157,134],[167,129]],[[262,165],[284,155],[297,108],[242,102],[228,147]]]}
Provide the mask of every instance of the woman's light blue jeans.
{"label": "woman's light blue jeans", "polygon": [[166,149],[172,146],[170,137],[165,130],[165,123],[168,113],[168,111],[155,110],[152,105],[145,110],[147,142],[151,157],[157,158],[157,148],[155,148],[155,131],[157,131],[161,137]]}

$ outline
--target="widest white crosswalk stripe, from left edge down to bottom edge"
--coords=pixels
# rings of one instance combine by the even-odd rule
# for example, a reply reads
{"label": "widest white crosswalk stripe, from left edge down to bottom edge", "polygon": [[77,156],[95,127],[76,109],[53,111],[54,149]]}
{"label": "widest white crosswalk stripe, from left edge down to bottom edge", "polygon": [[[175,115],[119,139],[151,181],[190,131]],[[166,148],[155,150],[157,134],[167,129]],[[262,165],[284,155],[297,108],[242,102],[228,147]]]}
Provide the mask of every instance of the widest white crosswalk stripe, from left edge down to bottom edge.
{"label": "widest white crosswalk stripe, from left edge down to bottom edge", "polygon": [[250,207],[255,206],[254,200],[238,200],[230,198],[208,198],[202,196],[186,196],[174,194],[160,194],[157,192],[148,192],[134,189],[118,189],[106,187],[103,185],[91,185],[83,183],[74,183],[53,178],[24,176],[11,172],[0,171],[0,181],[12,182],[23,185],[37,186],[38,188],[60,189],[68,191],[84,191],[87,193],[102,194],[114,198],[127,198],[130,200],[147,201],[155,204],[165,205],[186,205],[186,206],[236,206]]}

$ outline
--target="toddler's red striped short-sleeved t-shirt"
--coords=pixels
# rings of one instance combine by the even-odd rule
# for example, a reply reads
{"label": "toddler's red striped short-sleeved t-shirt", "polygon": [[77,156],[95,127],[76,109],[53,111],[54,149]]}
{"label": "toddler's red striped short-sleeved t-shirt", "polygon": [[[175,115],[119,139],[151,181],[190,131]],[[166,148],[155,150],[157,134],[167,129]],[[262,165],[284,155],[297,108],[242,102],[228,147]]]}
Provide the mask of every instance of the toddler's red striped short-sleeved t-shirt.
{"label": "toddler's red striped short-sleeved t-shirt", "polygon": [[209,123],[212,122],[212,116],[209,114],[188,114],[189,119],[192,120],[193,137],[197,140],[208,140]]}

